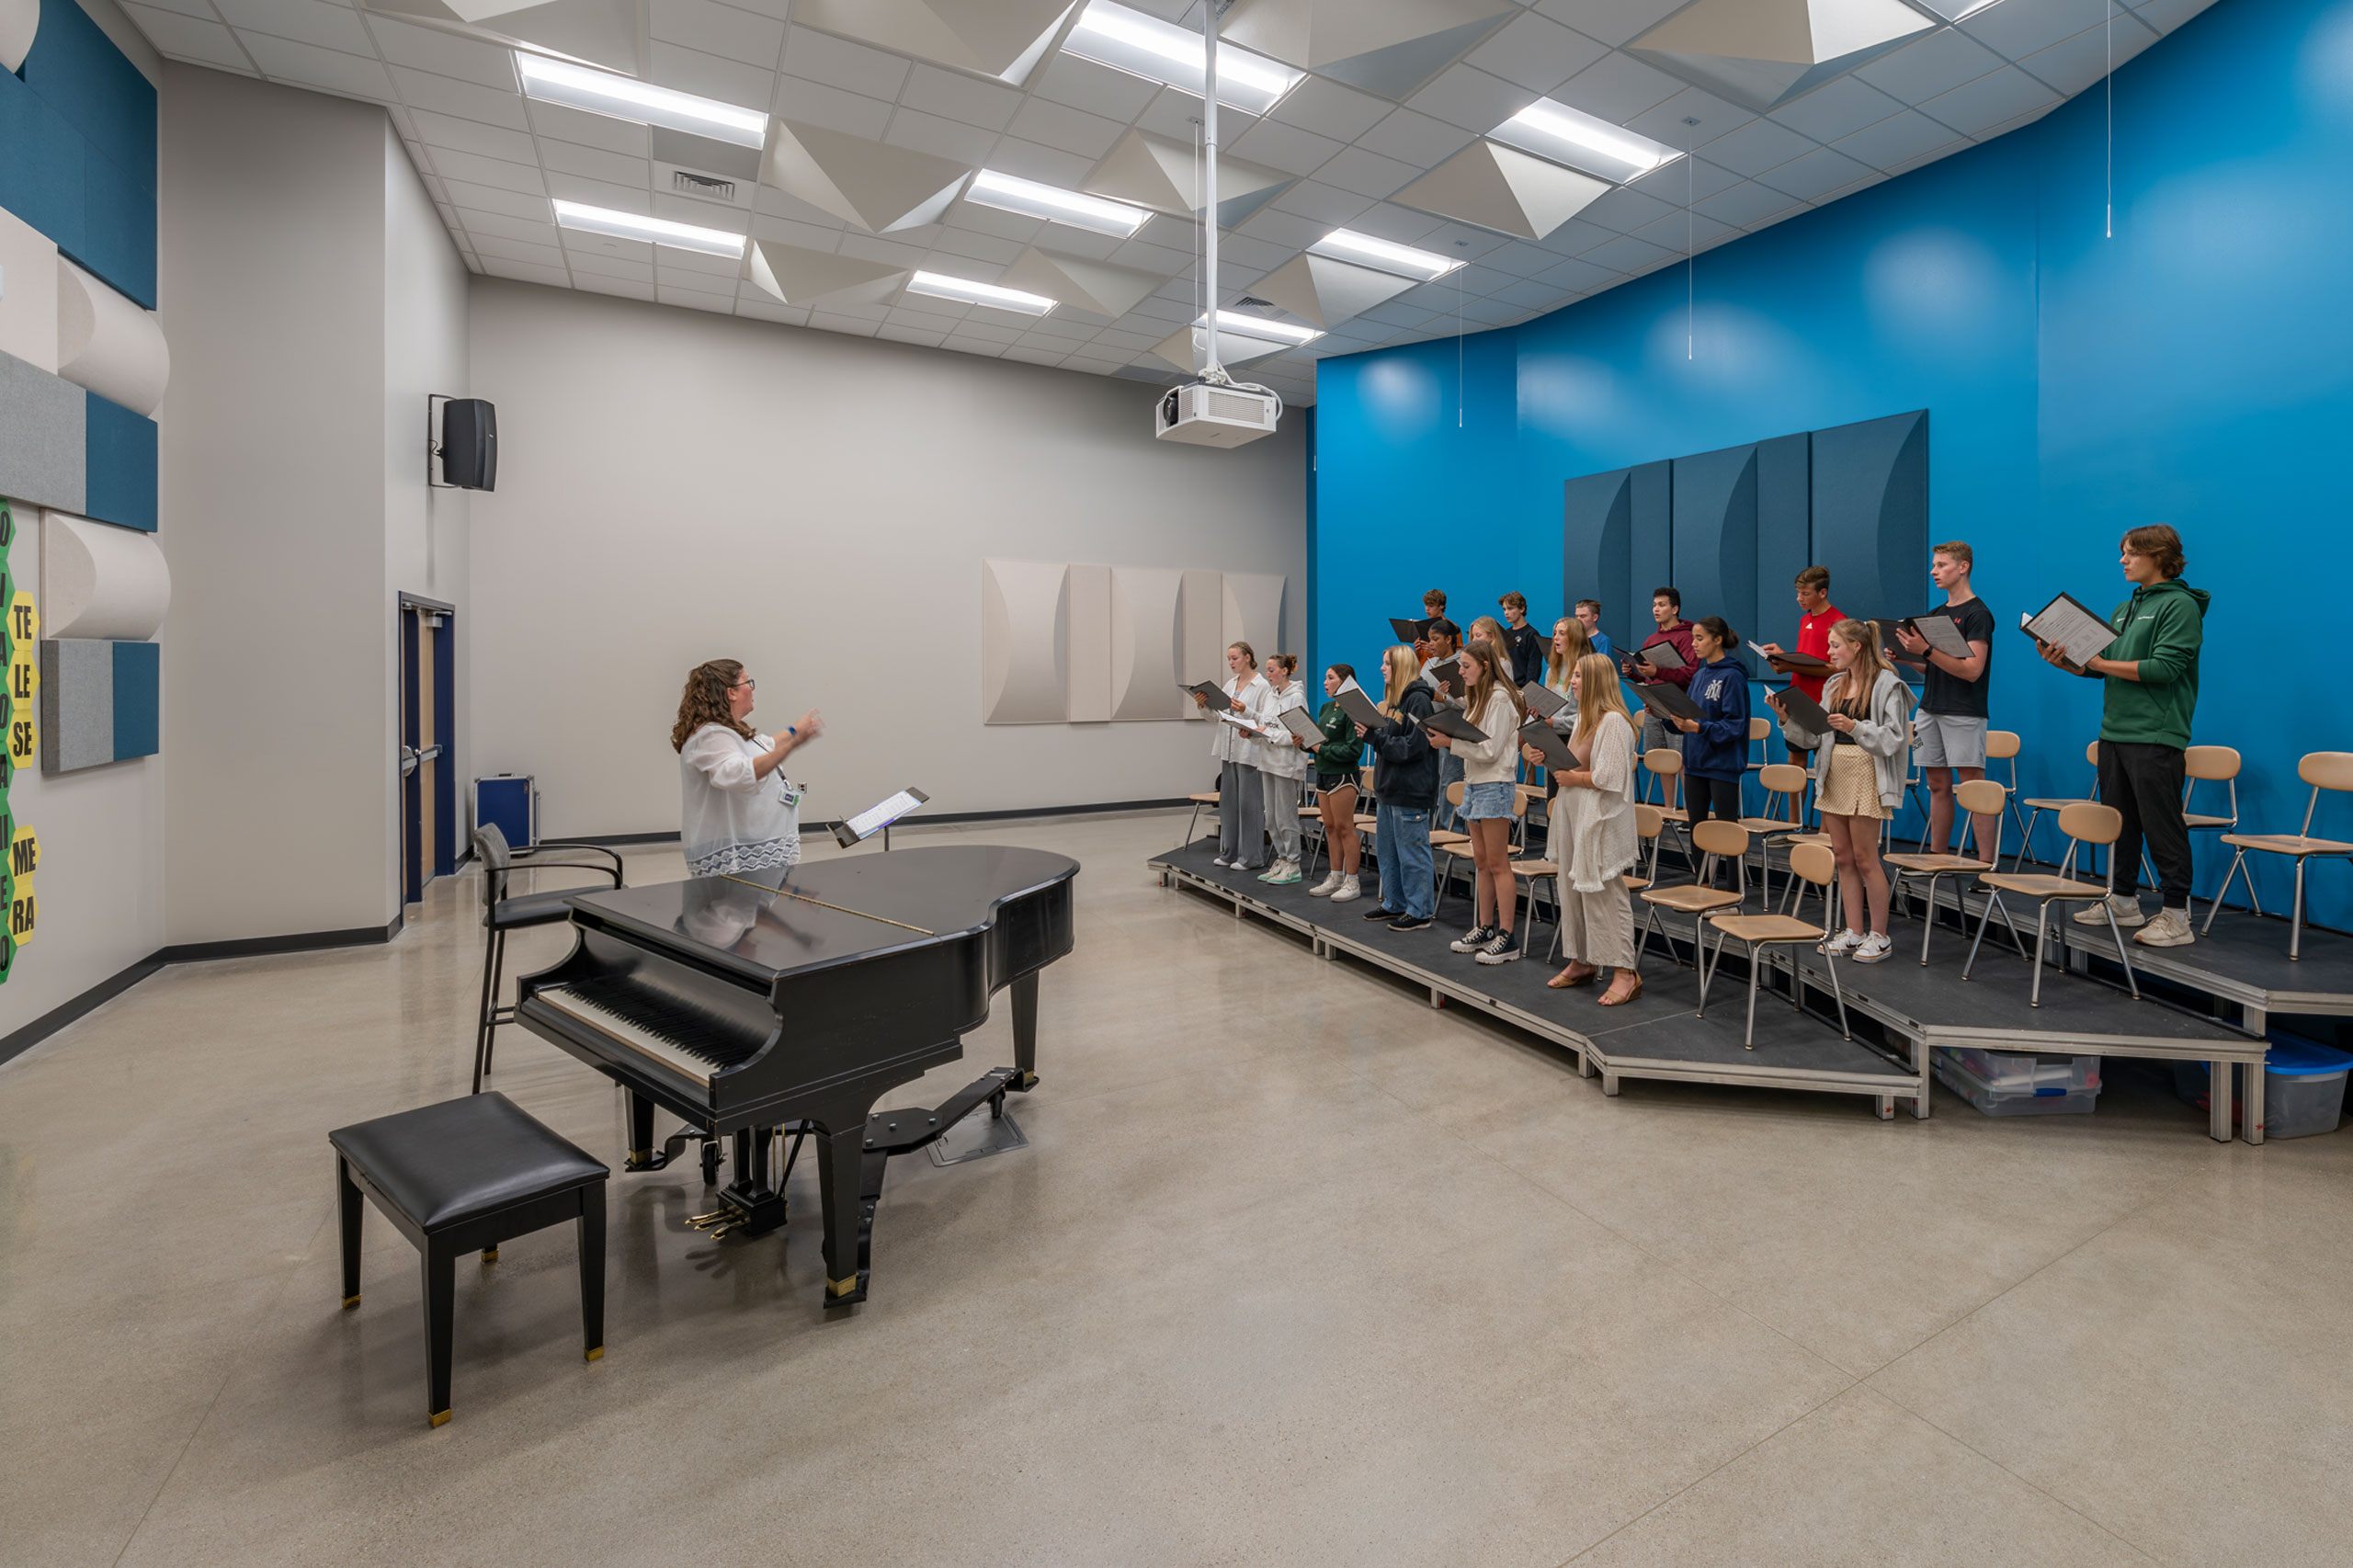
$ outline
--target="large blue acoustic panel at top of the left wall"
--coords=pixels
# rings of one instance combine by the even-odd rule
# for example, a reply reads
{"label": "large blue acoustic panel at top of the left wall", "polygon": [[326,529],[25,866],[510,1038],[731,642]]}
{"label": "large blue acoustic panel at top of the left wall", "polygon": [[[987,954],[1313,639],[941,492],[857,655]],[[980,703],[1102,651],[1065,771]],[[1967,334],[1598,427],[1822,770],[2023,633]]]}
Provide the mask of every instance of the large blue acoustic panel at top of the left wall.
{"label": "large blue acoustic panel at top of the left wall", "polygon": [[73,0],[0,80],[0,207],[153,311],[155,87]]}

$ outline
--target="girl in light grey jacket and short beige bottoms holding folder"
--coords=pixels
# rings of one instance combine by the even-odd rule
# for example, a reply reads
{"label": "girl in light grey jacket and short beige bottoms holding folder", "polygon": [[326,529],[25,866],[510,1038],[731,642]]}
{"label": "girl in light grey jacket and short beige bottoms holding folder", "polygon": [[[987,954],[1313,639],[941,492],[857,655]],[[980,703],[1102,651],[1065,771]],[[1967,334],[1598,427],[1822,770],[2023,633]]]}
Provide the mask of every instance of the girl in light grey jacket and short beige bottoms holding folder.
{"label": "girl in light grey jacket and short beige bottoms holding folder", "polygon": [[[1838,622],[1826,657],[1833,673],[1824,683],[1821,706],[1831,713],[1831,735],[1817,735],[1791,718],[1779,695],[1765,702],[1781,713],[1788,744],[1814,753],[1814,805],[1821,808],[1821,829],[1838,855],[1838,902],[1847,921],[1845,930],[1821,942],[1821,951],[1878,963],[1892,946],[1880,824],[1904,803],[1913,697],[1904,678],[1887,669],[1880,629],[1871,622]],[[1857,913],[1866,916],[1868,932],[1854,930]]]}

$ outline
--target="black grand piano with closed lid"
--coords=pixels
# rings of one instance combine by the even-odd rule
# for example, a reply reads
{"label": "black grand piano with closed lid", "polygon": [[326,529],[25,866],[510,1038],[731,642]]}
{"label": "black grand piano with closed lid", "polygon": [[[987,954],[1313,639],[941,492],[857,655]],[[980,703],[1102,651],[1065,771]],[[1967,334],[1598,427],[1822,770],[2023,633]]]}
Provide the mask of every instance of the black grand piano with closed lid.
{"label": "black grand piano with closed lid", "polygon": [[[866,1300],[873,1212],[892,1154],[1038,1083],[1038,970],[1071,951],[1078,862],[939,845],[807,866],[584,892],[562,963],[518,982],[515,1022],[628,1090],[628,1170],[734,1142],[713,1234],[784,1224],[779,1132],[816,1137],[826,1307]],[[965,1055],[1012,986],[1014,1064],[936,1109],[875,1099]],[[687,1123],[654,1147],[654,1109]],[[786,1163],[786,1172],[791,1165]]]}

